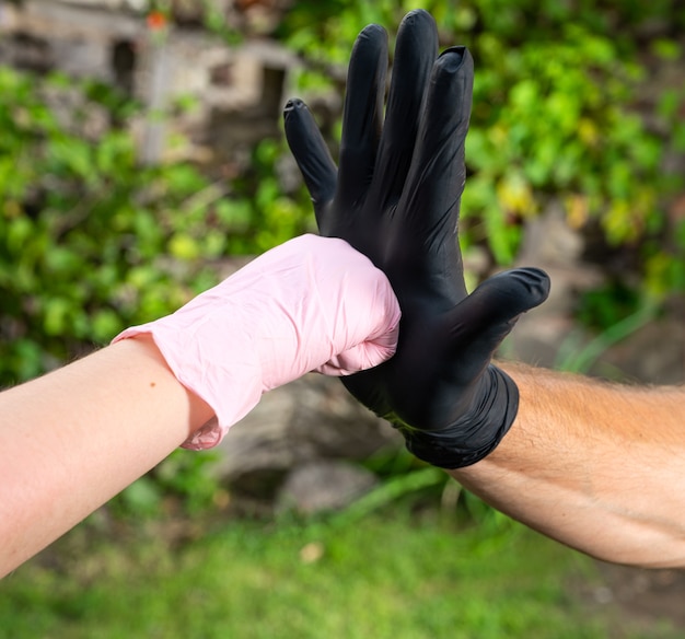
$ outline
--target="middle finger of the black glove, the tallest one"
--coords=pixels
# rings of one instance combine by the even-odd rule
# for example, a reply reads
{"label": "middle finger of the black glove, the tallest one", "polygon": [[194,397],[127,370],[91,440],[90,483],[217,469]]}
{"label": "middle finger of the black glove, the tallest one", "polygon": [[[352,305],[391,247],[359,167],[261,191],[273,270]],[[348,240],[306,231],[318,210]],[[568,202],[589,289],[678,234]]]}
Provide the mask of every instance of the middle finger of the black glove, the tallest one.
{"label": "middle finger of the black glove, the tallest one", "polygon": [[373,179],[378,208],[402,195],[419,127],[421,104],[438,56],[438,28],[423,10],[411,11],[399,25],[385,124]]}

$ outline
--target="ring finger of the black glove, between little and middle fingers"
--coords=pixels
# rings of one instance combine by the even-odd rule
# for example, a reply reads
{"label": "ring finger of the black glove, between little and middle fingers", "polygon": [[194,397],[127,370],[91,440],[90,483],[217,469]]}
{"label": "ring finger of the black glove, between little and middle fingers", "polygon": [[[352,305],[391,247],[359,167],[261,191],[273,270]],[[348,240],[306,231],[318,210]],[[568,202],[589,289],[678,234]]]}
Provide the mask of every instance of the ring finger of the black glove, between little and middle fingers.
{"label": "ring finger of the black glove, between little and middle fingers", "polygon": [[387,33],[371,24],[355,43],[347,75],[336,194],[341,210],[359,202],[371,184],[382,128],[386,72]]}

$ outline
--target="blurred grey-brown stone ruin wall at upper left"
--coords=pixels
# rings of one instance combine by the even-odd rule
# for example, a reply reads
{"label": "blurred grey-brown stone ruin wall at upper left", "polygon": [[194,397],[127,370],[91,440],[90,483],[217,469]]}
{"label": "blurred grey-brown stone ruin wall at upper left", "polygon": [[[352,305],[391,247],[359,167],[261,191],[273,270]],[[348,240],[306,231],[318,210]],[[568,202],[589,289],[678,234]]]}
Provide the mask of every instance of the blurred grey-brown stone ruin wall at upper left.
{"label": "blurred grey-brown stone ruin wall at upper left", "polygon": [[166,127],[189,137],[193,159],[200,162],[278,132],[288,71],[295,63],[268,37],[282,11],[278,3],[213,0],[227,25],[244,34],[232,46],[204,27],[198,7],[207,3],[173,2],[174,20],[163,36],[148,24],[147,4],[0,0],[0,63],[100,80],[150,113],[166,114],[177,100],[193,100],[189,113],[141,126],[144,162],[164,156]]}

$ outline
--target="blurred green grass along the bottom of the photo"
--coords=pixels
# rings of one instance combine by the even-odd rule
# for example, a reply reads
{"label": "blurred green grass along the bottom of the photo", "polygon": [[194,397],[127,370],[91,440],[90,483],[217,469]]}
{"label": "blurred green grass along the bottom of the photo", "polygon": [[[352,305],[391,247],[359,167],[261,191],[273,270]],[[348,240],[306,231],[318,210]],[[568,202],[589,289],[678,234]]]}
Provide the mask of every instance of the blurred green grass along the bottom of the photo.
{"label": "blurred green grass along the bottom of the photo", "polygon": [[184,544],[92,537],[77,528],[0,582],[0,637],[609,636],[568,594],[591,562],[518,525],[484,536],[436,513],[385,513],[232,521]]}

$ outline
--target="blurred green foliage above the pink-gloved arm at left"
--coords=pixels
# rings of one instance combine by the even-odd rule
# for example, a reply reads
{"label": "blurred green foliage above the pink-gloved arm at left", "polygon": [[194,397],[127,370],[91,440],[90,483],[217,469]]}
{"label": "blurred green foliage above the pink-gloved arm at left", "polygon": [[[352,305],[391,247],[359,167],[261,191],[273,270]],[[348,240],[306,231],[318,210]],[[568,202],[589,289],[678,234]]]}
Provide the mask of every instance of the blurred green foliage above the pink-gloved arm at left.
{"label": "blurred green foliage above the pink-gloved arm at left", "polygon": [[137,162],[137,108],[102,84],[0,68],[0,386],[174,311],[216,283],[212,260],[306,228],[274,142],[224,197],[189,164]]}

